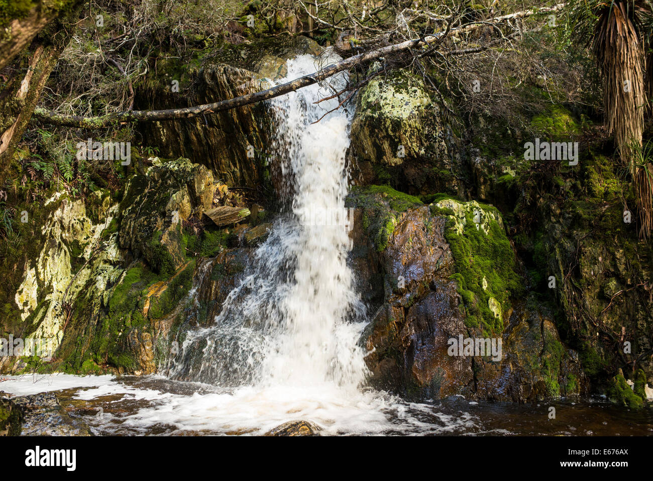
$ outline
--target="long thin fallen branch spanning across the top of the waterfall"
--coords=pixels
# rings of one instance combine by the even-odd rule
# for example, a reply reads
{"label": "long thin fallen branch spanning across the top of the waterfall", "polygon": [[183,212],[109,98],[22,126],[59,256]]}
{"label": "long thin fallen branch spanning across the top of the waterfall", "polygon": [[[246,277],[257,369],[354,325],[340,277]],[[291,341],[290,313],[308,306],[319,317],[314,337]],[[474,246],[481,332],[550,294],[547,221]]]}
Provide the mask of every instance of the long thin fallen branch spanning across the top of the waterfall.
{"label": "long thin fallen branch spanning across the top of the waterfall", "polygon": [[367,63],[377,58],[381,58],[390,54],[396,54],[397,52],[404,52],[406,50],[421,48],[422,46],[441,41],[451,33],[466,33],[486,25],[496,25],[508,20],[526,18],[537,13],[555,12],[564,6],[564,3],[560,3],[554,7],[545,7],[539,8],[538,10],[524,10],[522,12],[515,12],[512,14],[495,17],[484,22],[475,22],[473,24],[464,25],[463,27],[447,29],[442,32],[434,33],[433,35],[426,35],[423,39],[407,40],[398,44],[388,45],[377,48],[375,50],[370,50],[369,52],[362,52],[353,57],[344,59],[338,63],[327,65],[323,69],[320,69],[319,71],[310,75],[305,75],[300,78],[296,78],[295,80],[291,80],[291,82],[268,88],[267,90],[257,91],[255,93],[247,93],[246,95],[241,95],[240,97],[235,97],[233,99],[227,99],[215,103],[197,105],[195,107],[170,108],[167,110],[129,110],[126,112],[115,112],[113,114],[97,117],[62,115],[50,110],[46,110],[44,108],[35,108],[33,118],[36,118],[45,124],[97,129],[101,127],[108,127],[110,125],[118,125],[124,122],[156,122],[159,120],[192,118],[202,114],[214,114],[216,112],[223,112],[225,110],[231,110],[232,108],[243,107],[245,105],[251,105],[253,103],[273,99],[274,97],[279,97],[279,95],[285,95],[291,91],[299,90],[300,88],[304,88],[312,84],[317,84],[317,82],[321,82],[322,80],[325,80],[330,76],[336,75],[342,71],[349,70],[355,65]]}

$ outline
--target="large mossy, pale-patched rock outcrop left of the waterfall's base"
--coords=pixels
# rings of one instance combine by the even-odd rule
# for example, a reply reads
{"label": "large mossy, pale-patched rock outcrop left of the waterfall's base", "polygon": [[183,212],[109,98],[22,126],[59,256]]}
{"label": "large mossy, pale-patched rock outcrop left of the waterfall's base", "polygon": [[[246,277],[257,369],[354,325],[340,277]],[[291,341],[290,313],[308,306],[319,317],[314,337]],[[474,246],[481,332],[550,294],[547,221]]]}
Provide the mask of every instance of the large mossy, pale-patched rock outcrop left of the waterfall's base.
{"label": "large mossy, pale-patched rock outcrop left of the waterfall's base", "polygon": [[22,281],[5,306],[20,321],[2,327],[3,339],[45,339],[48,351],[4,352],[3,341],[0,371],[155,373],[178,348],[180,326],[219,314],[272,224],[261,206],[256,218],[242,209],[236,227],[203,222],[210,208],[233,209],[224,204],[242,198],[188,159],[149,163],[119,203],[106,191],[46,203],[42,237],[34,257],[20,259]]}

